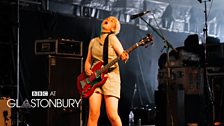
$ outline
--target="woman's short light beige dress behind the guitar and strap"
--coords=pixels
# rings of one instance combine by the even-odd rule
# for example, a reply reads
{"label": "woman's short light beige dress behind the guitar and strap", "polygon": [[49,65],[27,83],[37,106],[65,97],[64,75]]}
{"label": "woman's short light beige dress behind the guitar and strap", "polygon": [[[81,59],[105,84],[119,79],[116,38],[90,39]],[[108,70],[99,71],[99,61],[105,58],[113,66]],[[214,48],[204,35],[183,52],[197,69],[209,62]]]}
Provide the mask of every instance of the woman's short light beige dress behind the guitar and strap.
{"label": "woman's short light beige dress behind the guitar and strap", "polygon": [[[110,38],[110,37],[109,37]],[[93,65],[97,64],[99,61],[103,61],[103,44],[100,42],[100,38],[94,38],[89,45],[89,50],[92,52]],[[113,59],[117,58],[117,54],[113,49],[110,39],[108,40],[108,63]],[[120,98],[121,81],[120,81],[120,71],[118,63],[111,66],[113,69],[109,71],[106,75],[108,79],[102,87],[96,88],[95,92],[102,93],[104,95],[110,95]]]}

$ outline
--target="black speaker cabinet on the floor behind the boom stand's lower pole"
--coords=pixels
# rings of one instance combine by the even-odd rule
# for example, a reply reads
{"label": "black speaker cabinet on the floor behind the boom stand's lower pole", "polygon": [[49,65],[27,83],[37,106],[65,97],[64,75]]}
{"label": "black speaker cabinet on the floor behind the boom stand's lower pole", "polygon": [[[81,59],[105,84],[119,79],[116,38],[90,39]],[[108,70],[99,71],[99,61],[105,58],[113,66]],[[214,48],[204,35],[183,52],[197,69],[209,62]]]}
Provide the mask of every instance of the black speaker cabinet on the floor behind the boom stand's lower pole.
{"label": "black speaker cabinet on the floor behind the boom stand's lower pole", "polygon": [[184,90],[158,90],[155,92],[156,126],[184,126]]}

